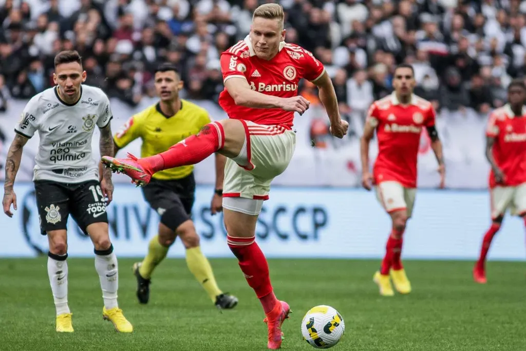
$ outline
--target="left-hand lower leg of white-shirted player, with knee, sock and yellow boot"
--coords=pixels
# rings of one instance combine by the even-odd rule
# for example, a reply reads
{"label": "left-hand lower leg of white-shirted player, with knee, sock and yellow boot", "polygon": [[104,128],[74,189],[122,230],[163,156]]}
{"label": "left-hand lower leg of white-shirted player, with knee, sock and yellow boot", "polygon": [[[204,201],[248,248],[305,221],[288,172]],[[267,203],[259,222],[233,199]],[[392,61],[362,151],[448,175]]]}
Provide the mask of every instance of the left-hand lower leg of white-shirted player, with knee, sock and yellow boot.
{"label": "left-hand lower leg of white-shirted player, with knee, sock and yellow boot", "polygon": [[55,329],[59,333],[72,333],[72,313],[67,303],[67,232],[65,229],[50,230],[47,239],[47,275],[57,312]]}

